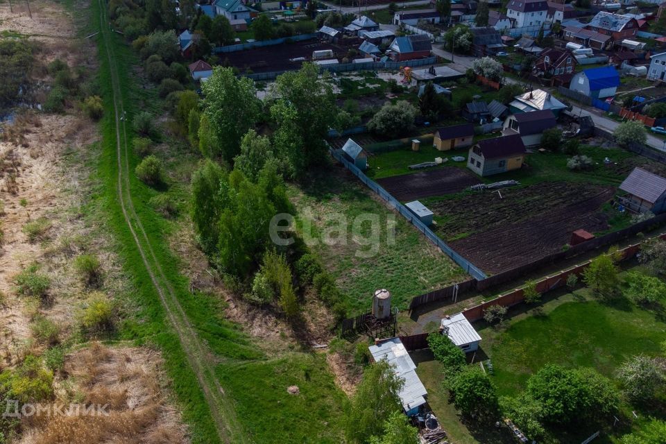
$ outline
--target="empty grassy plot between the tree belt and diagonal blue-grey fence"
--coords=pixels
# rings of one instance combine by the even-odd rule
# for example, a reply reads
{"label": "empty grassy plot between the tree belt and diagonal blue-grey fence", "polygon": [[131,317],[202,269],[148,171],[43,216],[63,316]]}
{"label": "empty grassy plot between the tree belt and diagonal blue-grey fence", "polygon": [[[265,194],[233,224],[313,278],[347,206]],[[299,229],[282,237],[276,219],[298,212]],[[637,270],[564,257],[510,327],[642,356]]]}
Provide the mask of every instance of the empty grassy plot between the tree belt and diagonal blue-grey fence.
{"label": "empty grassy plot between the tree belt and diagonal blue-grey fence", "polygon": [[[336,278],[353,313],[368,311],[378,288],[391,291],[393,305],[404,309],[413,296],[465,278],[461,268],[402,216],[371,195],[365,185],[347,176],[339,166],[329,169],[329,173],[319,174],[307,187],[290,187],[289,194],[298,208],[301,237],[311,225],[312,237],[316,239],[311,249]],[[370,222],[359,224],[360,218],[366,216],[376,218],[378,225],[377,241],[369,245]],[[340,226],[335,218],[348,224],[343,228],[346,235],[336,243],[325,243],[322,235]],[[387,229],[393,223],[394,237],[389,234],[393,230]]]}

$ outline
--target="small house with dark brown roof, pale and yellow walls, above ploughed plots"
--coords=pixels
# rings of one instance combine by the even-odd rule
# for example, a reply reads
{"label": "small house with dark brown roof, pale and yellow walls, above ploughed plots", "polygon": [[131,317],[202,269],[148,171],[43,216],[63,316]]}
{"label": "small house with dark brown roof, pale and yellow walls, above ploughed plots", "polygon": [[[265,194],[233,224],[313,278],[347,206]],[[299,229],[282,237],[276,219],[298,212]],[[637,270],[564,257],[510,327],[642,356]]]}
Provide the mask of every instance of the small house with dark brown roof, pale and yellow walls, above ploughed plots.
{"label": "small house with dark brown roof, pale and yellow walls, above ploughed plots", "polygon": [[506,173],[520,169],[526,154],[518,134],[485,139],[470,148],[467,167],[479,176]]}

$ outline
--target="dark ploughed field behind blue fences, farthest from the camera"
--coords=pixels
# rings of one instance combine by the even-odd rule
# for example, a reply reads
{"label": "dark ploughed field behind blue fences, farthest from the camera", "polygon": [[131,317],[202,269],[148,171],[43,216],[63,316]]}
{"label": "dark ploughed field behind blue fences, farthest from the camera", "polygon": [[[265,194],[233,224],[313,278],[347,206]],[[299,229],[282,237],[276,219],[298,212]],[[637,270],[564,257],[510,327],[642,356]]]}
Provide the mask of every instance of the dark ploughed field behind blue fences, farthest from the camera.
{"label": "dark ploughed field behind blue fences, farthest from the camera", "polygon": [[312,51],[331,49],[337,57],[343,57],[347,48],[318,40],[275,44],[260,48],[246,49],[233,53],[221,53],[219,58],[224,65],[237,67],[241,71],[252,69],[254,72],[289,71],[300,69],[302,62],[291,62],[289,59],[305,58],[310,60]]}

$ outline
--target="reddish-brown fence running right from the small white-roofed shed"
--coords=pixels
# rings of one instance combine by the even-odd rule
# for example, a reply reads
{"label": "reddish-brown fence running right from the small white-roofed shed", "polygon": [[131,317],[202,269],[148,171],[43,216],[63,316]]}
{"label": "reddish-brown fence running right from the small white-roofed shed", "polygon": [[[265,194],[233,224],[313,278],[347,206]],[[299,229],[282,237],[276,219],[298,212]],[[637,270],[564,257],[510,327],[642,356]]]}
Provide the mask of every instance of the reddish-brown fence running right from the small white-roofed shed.
{"label": "reddish-brown fence running right from the small white-roofed shed", "polygon": [[[666,240],[666,234],[662,234],[660,238]],[[620,249],[620,252],[622,253],[622,260],[634,257],[636,253],[640,251],[640,247],[641,244],[634,244]],[[563,287],[567,283],[567,278],[569,277],[569,275],[575,274],[580,276],[583,273],[583,271],[586,268],[588,268],[590,262],[591,261],[579,264],[577,266],[569,268],[565,271],[561,271],[560,273],[557,273],[555,275],[548,276],[547,278],[536,282],[536,290],[539,293],[546,293],[547,291]],[[463,315],[470,322],[479,321],[479,319],[484,317],[484,311],[486,311],[486,309],[491,305],[502,305],[502,307],[511,307],[513,305],[519,304],[523,300],[524,300],[523,289],[522,288],[515,289],[502,296],[498,296],[493,300],[489,300],[488,302],[483,302],[479,305],[476,305],[475,307],[466,309],[465,311],[463,311]]]}

